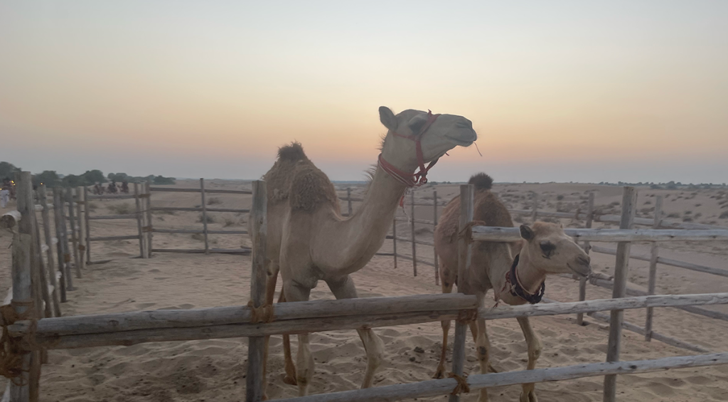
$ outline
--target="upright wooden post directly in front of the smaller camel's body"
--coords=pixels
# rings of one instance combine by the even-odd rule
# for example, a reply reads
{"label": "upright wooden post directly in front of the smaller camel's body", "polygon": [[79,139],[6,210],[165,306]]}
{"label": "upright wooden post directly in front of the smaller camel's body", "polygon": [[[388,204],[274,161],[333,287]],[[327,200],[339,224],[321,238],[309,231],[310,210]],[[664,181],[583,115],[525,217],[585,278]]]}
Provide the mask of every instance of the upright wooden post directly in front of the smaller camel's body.
{"label": "upright wooden post directly in front of the smaller camel's body", "polygon": [[[460,185],[460,222],[458,229],[464,229],[472,221],[473,212],[473,191],[472,184]],[[463,293],[465,272],[470,265],[470,239],[464,236],[458,237],[458,259],[457,259],[457,291]],[[453,341],[453,367],[452,372],[462,376],[465,365],[465,336],[467,334],[467,323],[460,320],[455,322],[455,338]],[[460,401],[460,395],[450,395],[450,402]]]}

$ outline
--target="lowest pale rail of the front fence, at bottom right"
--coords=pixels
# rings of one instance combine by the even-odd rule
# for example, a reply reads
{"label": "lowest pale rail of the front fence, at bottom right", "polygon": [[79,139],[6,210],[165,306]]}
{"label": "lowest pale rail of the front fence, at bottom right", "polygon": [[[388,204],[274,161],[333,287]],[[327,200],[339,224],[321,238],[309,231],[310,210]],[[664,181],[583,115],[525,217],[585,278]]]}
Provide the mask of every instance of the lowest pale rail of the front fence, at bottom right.
{"label": "lowest pale rail of the front fence, at bottom right", "polygon": [[[640,374],[665,371],[670,368],[716,366],[728,363],[728,353],[677,356],[654,360],[617,361],[609,363],[577,364],[574,366],[534,368],[534,370],[507,371],[505,373],[471,374],[466,381],[470,393],[481,388],[531,382],[561,381],[584,377],[601,377],[606,374]],[[402,399],[427,398],[447,395],[458,385],[456,379],[430,379],[411,384],[384,385],[363,390],[339,391],[298,398],[277,399],[280,402],[392,402]]]}

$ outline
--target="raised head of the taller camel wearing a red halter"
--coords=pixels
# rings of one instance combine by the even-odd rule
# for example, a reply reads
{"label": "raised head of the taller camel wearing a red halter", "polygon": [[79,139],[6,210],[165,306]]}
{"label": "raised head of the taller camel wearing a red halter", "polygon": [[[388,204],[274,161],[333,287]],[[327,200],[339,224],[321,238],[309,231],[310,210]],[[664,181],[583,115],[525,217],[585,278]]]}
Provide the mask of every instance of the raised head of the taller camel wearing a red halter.
{"label": "raised head of the taller camel wearing a red halter", "polygon": [[456,146],[470,146],[478,138],[472,122],[454,114],[432,116],[427,111],[408,109],[395,115],[391,109],[381,106],[379,119],[388,129],[381,156],[407,173],[414,172],[420,162],[416,139],[422,146],[422,162],[428,163]]}

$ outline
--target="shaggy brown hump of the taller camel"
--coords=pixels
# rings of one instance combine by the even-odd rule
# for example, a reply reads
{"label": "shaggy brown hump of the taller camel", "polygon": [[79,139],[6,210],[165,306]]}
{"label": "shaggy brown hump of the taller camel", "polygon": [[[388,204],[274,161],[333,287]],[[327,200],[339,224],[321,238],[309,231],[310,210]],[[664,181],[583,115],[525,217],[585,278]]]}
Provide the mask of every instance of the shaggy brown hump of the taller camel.
{"label": "shaggy brown hump of the taller camel", "polygon": [[306,157],[301,143],[293,142],[278,149],[278,160],[263,176],[268,187],[268,201],[276,204],[288,200],[293,210],[317,210],[320,205],[338,207],[336,190],[328,177]]}

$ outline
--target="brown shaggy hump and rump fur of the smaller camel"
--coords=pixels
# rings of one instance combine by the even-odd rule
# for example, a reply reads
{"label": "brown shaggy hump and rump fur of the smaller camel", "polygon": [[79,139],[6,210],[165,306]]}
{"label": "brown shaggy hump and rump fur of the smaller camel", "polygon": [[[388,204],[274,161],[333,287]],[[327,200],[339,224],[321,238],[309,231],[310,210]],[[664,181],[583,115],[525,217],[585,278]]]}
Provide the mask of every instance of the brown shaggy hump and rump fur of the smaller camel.
{"label": "brown shaggy hump and rump fur of the smaller camel", "polygon": [[[490,191],[493,179],[485,173],[478,173],[470,178],[469,184],[475,186],[473,197],[472,220],[481,222],[485,226],[513,227],[513,219],[505,208],[505,205],[498,200],[495,194]],[[435,228],[435,236],[444,238],[448,243],[457,241],[460,221],[460,196],[454,197],[442,215],[440,224]],[[485,242],[479,242],[485,243]]]}

